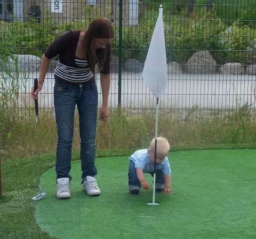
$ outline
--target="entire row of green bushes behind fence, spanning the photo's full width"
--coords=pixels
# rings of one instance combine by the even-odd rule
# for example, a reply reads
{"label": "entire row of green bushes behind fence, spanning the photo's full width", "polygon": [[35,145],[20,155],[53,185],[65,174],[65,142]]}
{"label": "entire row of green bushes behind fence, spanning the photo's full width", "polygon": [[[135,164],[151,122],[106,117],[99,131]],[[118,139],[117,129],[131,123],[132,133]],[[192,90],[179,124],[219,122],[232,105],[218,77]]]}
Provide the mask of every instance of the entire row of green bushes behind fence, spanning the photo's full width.
{"label": "entire row of green bushes behind fence, spanning the photo's full width", "polygon": [[[154,3],[154,4],[153,4]],[[164,1],[166,6],[185,6],[187,1]],[[149,4],[149,2],[147,2]],[[151,7],[158,4],[151,3]],[[202,18],[184,19],[187,24],[181,24],[181,20],[174,15],[174,20],[167,19],[164,15],[165,46],[167,62],[177,61],[184,64],[189,57],[199,50],[208,50],[219,63],[236,61],[241,63],[253,63],[255,59],[255,47],[252,40],[255,38],[255,29],[251,24],[244,24],[244,19],[237,20],[227,25],[218,15],[218,1],[210,12],[206,13],[207,1],[196,1],[194,10],[201,14]],[[149,4],[150,5],[150,4]],[[153,6],[154,5],[154,6]],[[198,8],[199,7],[199,8]],[[182,8],[185,9],[184,7]],[[231,8],[232,9],[232,8]],[[182,10],[182,14],[186,14]],[[86,19],[75,19],[65,22],[53,22],[49,11],[44,12],[41,24],[31,18],[27,22],[19,22],[15,18],[12,22],[0,21],[0,54],[3,55],[3,45],[11,47],[14,54],[32,54],[42,57],[45,49],[58,35],[70,29],[85,29],[89,23],[100,15],[97,7],[87,5],[84,9]],[[110,11],[107,9],[106,11]],[[155,11],[155,10],[152,10]],[[231,11],[231,10],[230,10]],[[233,11],[233,10],[232,10]],[[247,10],[246,10],[247,11]],[[251,10],[250,10],[251,11]],[[154,12],[157,16],[157,12]],[[110,15],[110,13],[108,13]],[[176,14],[176,13],[175,13]],[[248,15],[249,16],[249,15]],[[196,16],[195,16],[196,17]],[[249,18],[249,17],[248,17]],[[253,19],[253,17],[250,17]],[[146,60],[148,47],[153,34],[156,18],[140,21],[140,23],[124,26],[122,29],[122,62],[129,58],[137,59],[142,63]],[[175,20],[176,19],[176,20]],[[119,27],[115,27],[115,39],[113,40],[113,54],[118,56]],[[226,30],[225,30],[226,29]]]}

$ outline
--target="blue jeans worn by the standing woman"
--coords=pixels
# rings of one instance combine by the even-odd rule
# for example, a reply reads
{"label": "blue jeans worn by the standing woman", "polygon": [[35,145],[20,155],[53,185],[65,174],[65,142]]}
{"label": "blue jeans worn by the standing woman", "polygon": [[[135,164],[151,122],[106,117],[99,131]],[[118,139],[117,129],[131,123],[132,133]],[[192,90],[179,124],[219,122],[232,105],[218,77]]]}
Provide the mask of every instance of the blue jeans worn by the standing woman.
{"label": "blue jeans worn by the standing woman", "polygon": [[95,160],[95,134],[98,114],[97,84],[76,86],[55,83],[54,108],[58,128],[57,160],[55,170],[57,179],[68,177],[71,169],[71,147],[74,136],[74,114],[77,105],[79,132],[81,138],[80,159],[82,180],[94,176],[97,169]]}

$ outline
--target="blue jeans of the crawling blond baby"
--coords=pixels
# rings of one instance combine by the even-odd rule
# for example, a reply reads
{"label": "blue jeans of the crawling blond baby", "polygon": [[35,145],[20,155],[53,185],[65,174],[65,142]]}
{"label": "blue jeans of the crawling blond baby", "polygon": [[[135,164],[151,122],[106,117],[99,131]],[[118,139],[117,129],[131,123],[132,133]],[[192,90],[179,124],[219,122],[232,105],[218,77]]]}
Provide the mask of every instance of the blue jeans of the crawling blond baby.
{"label": "blue jeans of the crawling blond baby", "polygon": [[[154,176],[154,172],[148,172],[152,177]],[[129,190],[137,189],[140,190],[141,184],[137,176],[137,171],[135,168],[135,163],[130,160],[129,164],[129,172],[128,172],[128,178],[129,178]],[[158,188],[164,188],[165,180],[164,180],[164,173],[162,169],[156,170],[156,189]]]}

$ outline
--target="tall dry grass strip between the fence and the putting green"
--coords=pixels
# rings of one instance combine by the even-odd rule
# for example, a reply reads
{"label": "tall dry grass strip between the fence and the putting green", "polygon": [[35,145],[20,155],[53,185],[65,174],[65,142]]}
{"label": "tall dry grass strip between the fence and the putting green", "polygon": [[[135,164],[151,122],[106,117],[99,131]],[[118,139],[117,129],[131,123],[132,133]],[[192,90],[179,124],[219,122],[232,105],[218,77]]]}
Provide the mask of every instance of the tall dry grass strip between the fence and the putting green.
{"label": "tall dry grass strip between the fence and the putting green", "polygon": [[[1,142],[3,161],[24,158],[37,154],[36,127],[33,105],[30,110],[20,114],[19,118],[10,116],[2,120],[12,131],[12,136]],[[173,110],[160,110],[158,118],[158,135],[166,137],[172,146],[212,145],[253,143],[256,141],[256,124],[254,111],[248,104],[230,110],[204,116],[197,109],[187,115],[174,117]],[[177,114],[177,112],[176,112]],[[79,150],[78,114],[74,121],[73,150]],[[7,134],[1,128],[1,135]],[[155,110],[142,110],[132,114],[131,109],[112,110],[106,123],[98,122],[97,149],[139,149],[148,147],[155,136]],[[7,137],[7,136],[6,136]],[[39,111],[39,140],[41,153],[55,152],[57,128],[54,112],[46,109]]]}

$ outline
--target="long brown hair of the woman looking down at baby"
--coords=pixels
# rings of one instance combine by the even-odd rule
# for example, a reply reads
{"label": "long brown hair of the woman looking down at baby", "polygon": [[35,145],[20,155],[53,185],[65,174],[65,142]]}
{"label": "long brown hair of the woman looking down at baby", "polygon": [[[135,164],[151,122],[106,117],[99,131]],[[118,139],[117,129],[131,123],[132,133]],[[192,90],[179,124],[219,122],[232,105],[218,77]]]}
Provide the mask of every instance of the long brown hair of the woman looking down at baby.
{"label": "long brown hair of the woman looking down at baby", "polygon": [[93,50],[93,42],[95,38],[114,38],[114,28],[111,21],[106,18],[94,19],[90,23],[83,37],[83,52],[86,55],[86,59],[93,74],[95,74],[95,65],[97,63],[99,65],[99,69],[103,70],[108,49],[107,45],[105,49],[99,48],[97,50]]}

